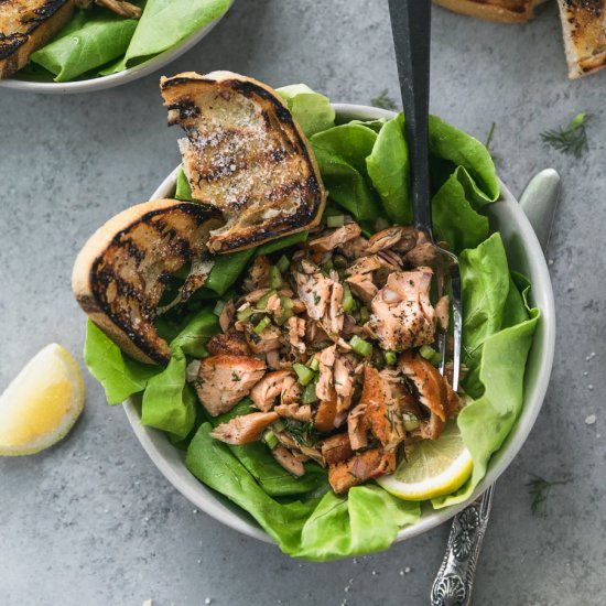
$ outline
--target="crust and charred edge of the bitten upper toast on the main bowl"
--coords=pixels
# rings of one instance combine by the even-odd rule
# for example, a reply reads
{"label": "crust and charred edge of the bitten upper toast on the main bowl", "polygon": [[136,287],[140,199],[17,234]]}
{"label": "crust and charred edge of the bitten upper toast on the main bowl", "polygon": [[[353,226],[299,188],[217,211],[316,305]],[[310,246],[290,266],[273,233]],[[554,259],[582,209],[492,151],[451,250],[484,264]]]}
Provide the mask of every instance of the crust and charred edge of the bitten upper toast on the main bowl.
{"label": "crust and charred edge of the bitten upper toast on the main bowl", "polygon": [[[313,197],[313,205],[311,207],[307,207],[304,212],[299,209],[297,213],[292,216],[278,217],[275,220],[268,221],[267,224],[264,224],[264,229],[262,232],[257,231],[250,236],[241,235],[239,237],[224,239],[224,241],[220,242],[220,248],[213,248],[212,251],[215,253],[234,252],[236,250],[241,250],[273,240],[284,235],[284,232],[288,232],[288,235],[292,235],[299,231],[304,231],[306,229],[313,229],[314,227],[317,227],[317,225],[320,225],[320,221],[322,220],[322,213],[326,204],[326,190],[324,188],[324,185],[322,183],[320,167],[313,152],[310,149],[310,143],[305,134],[301,130],[301,127],[294,120],[285,102],[272,88],[264,85],[263,83],[260,83],[253,78],[234,74],[231,72],[213,72],[205,76],[196,74],[195,72],[185,72],[183,74],[177,74],[176,76],[173,76],[171,78],[161,78],[160,88],[163,91],[174,86],[186,85],[196,82],[204,82],[208,84],[225,84],[232,87],[245,97],[251,97],[252,94],[257,94],[266,101],[269,101],[275,110],[275,115],[280,122],[284,123],[286,127],[290,127],[294,131],[296,136],[296,142],[301,150],[301,154],[312,167],[312,174],[310,175],[310,177],[307,178],[307,183],[305,184],[310,195]],[[188,106],[188,104],[184,104],[183,101],[177,104],[169,104],[166,101],[164,105],[169,111],[174,109],[180,110],[184,107],[191,107]],[[173,126],[173,123],[171,123],[170,126]],[[301,221],[309,223],[305,223],[301,227],[293,225],[300,224]],[[250,229],[255,230],[256,226],[250,226]],[[244,231],[244,229],[240,231]]]}

